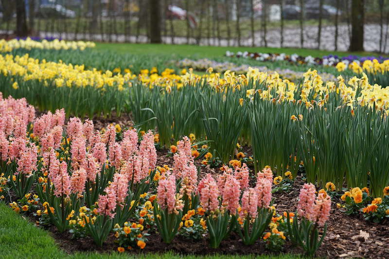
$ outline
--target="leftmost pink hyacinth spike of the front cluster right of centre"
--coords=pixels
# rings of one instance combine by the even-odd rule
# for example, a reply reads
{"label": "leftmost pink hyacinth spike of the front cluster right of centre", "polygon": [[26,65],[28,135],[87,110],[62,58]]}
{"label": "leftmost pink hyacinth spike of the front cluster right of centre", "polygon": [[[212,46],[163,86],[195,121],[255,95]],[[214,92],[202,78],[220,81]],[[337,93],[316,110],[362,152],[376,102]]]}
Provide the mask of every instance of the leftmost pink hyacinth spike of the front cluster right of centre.
{"label": "leftmost pink hyacinth spike of the front cluster right of centre", "polygon": [[198,184],[201,207],[207,211],[214,211],[219,208],[219,189],[215,179],[208,173]]}

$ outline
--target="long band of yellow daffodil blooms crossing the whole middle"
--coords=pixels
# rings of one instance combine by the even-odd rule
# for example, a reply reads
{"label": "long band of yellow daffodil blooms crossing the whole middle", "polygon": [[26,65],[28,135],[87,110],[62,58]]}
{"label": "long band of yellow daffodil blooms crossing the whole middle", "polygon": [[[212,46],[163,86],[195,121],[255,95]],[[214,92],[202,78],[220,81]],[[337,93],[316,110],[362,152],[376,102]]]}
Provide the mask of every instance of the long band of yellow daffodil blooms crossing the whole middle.
{"label": "long band of yellow daffodil blooms crossing the whole middle", "polygon": [[[312,106],[310,102],[313,100],[322,106],[328,101],[330,93],[338,94],[343,103],[351,106],[352,109],[355,105],[369,107],[375,105],[376,108],[385,110],[389,108],[389,87],[370,85],[364,73],[361,78],[354,76],[347,82],[340,75],[336,82],[323,82],[316,70],[309,69],[303,74],[301,85],[296,85],[294,82],[280,78],[276,72],[267,73],[252,68],[249,68],[246,74],[239,75],[229,70],[221,75],[213,73],[210,68],[205,75],[200,76],[195,74],[193,69],[188,70],[183,75],[177,75],[173,69],[165,69],[160,74],[155,68],[150,71],[143,69],[137,77],[129,69],[125,69],[126,73],[121,74],[120,71],[114,73],[110,70],[105,72],[97,69],[87,70],[84,65],[64,64],[61,61],[58,63],[46,62],[44,59],[39,61],[30,58],[28,54],[15,57],[0,56],[0,72],[4,76],[19,76],[23,81],[38,80],[45,86],[48,86],[50,81],[53,82],[53,87],[93,86],[103,91],[106,87],[117,87],[118,90],[123,90],[125,87],[132,86],[131,80],[138,78],[145,86],[162,87],[167,93],[171,92],[173,86],[180,88],[184,85],[207,83],[216,91],[226,91],[229,87],[233,90],[245,89],[248,99],[258,94],[263,100],[299,102],[304,103],[307,108]],[[14,84],[13,87],[15,89],[21,87],[20,83]],[[251,87],[250,84],[254,87],[258,84],[262,86],[261,89],[248,89]],[[241,105],[243,102],[243,99],[239,100]]]}

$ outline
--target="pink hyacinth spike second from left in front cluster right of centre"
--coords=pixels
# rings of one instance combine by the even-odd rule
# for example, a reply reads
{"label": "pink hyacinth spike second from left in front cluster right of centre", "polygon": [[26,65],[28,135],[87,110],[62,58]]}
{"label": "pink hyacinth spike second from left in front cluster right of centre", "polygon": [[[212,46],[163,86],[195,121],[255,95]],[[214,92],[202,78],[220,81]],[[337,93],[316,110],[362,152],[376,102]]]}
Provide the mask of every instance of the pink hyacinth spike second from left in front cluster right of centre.
{"label": "pink hyacinth spike second from left in front cluster right of centre", "polygon": [[239,182],[233,175],[228,174],[226,183],[222,191],[223,207],[226,207],[231,214],[236,214],[236,210],[239,207],[240,197]]}

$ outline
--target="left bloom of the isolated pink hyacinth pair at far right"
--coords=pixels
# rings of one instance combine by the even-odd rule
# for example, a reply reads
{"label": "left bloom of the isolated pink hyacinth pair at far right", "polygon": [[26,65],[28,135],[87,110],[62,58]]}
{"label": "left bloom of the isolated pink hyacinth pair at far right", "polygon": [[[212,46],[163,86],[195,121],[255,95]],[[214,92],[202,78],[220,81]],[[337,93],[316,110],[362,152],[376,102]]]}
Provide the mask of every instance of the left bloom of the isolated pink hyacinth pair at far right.
{"label": "left bloom of the isolated pink hyacinth pair at far right", "polygon": [[304,217],[311,220],[314,215],[314,205],[316,199],[315,185],[309,183],[304,184],[300,190],[299,204],[297,206],[297,212],[300,217]]}

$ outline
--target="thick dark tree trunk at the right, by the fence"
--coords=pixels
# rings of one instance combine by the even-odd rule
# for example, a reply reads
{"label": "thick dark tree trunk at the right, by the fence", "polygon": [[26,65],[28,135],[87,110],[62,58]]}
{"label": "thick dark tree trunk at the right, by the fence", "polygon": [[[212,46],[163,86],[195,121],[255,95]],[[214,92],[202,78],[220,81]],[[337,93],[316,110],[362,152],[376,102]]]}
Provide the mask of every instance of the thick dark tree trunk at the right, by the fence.
{"label": "thick dark tree trunk at the right, by the fence", "polygon": [[363,51],[364,0],[353,0],[351,5],[350,51]]}

